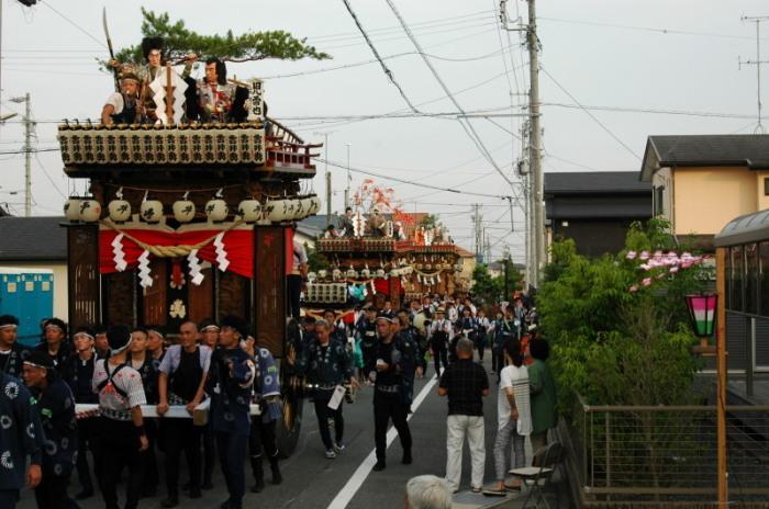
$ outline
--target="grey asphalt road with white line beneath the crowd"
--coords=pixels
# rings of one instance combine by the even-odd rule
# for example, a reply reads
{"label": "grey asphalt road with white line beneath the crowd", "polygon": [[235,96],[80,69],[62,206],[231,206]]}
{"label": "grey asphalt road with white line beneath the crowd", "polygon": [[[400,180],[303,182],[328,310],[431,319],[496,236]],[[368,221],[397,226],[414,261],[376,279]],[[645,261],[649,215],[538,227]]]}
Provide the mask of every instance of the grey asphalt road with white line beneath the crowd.
{"label": "grey asphalt road with white line beneath the crowd", "polygon": [[[490,358],[487,355],[484,365],[490,370]],[[434,378],[430,366],[428,377],[416,383],[415,395]],[[494,477],[493,457],[491,454],[497,430],[497,384],[493,374],[489,374],[491,394],[484,401],[487,467],[486,479],[490,483]],[[304,406],[302,432],[299,445],[291,457],[281,462],[283,484],[270,484],[269,466],[266,467],[266,488],[260,494],[247,493],[245,507],[269,508],[344,508],[371,509],[374,507],[397,508],[403,506],[405,483],[415,475],[434,474],[444,476],[446,473],[446,414],[447,403],[437,395],[437,384],[433,384],[410,420],[414,439],[414,462],[411,465],[401,464],[402,449],[398,439],[388,448],[388,466],[383,472],[371,472],[374,464],[374,409],[371,405],[372,391],[365,388],[358,393],[357,400],[345,405],[345,442],[347,449],[335,460],[324,457],[324,448],[317,432],[317,420],[312,405]],[[163,467],[163,455],[159,455]],[[182,459],[182,467],[185,461]],[[461,489],[469,489],[469,454],[465,448],[462,461]],[[163,475],[163,474],[161,474]],[[185,476],[182,473],[182,480]],[[353,479],[353,480],[350,480]],[[359,480],[359,486],[356,484]],[[250,466],[246,470],[247,489],[253,484]],[[79,491],[77,476],[73,475],[69,493]],[[124,501],[124,487],[121,486],[121,504]],[[143,499],[140,508],[157,508],[165,498],[164,483],[160,480],[158,496]],[[180,507],[196,509],[216,509],[226,499],[226,490],[219,465],[214,477],[214,489],[203,491],[203,498],[191,500],[181,494]],[[345,501],[348,504],[345,506]],[[334,505],[332,506],[332,502]],[[82,509],[102,508],[99,495],[79,502]],[[35,508],[34,497],[30,490],[22,493],[21,509]]]}

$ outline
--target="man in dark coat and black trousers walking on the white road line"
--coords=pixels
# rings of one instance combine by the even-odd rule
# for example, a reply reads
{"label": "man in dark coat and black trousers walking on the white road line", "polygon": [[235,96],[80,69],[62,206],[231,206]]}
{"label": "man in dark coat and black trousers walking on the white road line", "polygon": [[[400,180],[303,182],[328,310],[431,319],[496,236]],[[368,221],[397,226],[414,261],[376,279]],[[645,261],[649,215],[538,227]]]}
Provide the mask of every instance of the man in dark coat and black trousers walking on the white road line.
{"label": "man in dark coat and black trousers walking on the white road line", "polygon": [[398,430],[403,448],[404,465],[411,459],[411,430],[406,422],[409,414],[408,377],[413,376],[415,351],[411,342],[394,335],[393,319],[387,315],[377,317],[379,339],[372,349],[372,361],[366,364],[366,373],[374,386],[374,439],[377,445],[376,472],[387,467],[387,426],[390,419]]}

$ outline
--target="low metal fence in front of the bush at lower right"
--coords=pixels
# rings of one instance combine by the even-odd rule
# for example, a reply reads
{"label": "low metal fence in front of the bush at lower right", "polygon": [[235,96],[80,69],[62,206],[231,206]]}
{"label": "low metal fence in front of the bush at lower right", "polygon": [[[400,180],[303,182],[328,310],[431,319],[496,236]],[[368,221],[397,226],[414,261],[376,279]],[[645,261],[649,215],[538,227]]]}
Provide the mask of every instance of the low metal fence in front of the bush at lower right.
{"label": "low metal fence in front of the bush at lower right", "polygon": [[[715,501],[715,406],[579,406],[586,504]],[[726,407],[726,419],[729,500],[769,507],[769,406]]]}

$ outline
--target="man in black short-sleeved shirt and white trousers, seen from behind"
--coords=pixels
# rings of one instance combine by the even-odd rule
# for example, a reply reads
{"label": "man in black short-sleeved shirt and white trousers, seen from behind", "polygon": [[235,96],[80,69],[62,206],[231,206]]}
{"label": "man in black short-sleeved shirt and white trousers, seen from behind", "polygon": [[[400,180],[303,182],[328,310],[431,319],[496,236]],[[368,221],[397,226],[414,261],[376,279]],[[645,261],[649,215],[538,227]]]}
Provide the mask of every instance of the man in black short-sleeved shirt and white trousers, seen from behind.
{"label": "man in black short-sleeved shirt and white trousers, seen from behind", "polygon": [[472,462],[472,491],[480,493],[482,489],[486,465],[483,396],[488,395],[486,370],[472,362],[472,341],[461,338],[457,341],[457,361],[448,365],[438,387],[438,396],[448,396],[446,482],[455,493],[459,490],[461,478],[465,437]]}

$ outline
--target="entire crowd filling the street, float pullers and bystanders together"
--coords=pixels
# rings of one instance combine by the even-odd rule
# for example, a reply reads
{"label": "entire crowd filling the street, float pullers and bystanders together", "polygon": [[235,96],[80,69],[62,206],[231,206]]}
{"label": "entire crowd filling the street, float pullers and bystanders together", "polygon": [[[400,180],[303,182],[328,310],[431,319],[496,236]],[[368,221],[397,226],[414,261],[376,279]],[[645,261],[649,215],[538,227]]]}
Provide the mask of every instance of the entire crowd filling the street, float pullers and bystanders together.
{"label": "entire crowd filling the street, float pullers and bystanders together", "polygon": [[[486,493],[514,489],[504,482],[506,470],[523,464],[523,437],[531,436],[535,448],[545,444],[547,430],[555,426],[555,389],[544,364],[547,343],[536,335],[531,303],[516,298],[488,312],[493,319],[469,297],[424,296],[400,309],[387,301],[380,309],[367,304],[354,315],[333,309],[319,317],[305,314],[301,335],[292,339],[296,353],[286,360],[313,403],[322,454],[333,460],[345,451],[344,404],[355,391],[369,387],[374,471],[387,467],[390,422],[400,438],[401,462],[411,464],[406,418],[415,380],[427,375],[432,358],[438,394],[449,401],[447,486],[459,488],[467,437],[471,487],[480,491],[482,397],[490,388],[486,370],[475,359],[482,361],[490,348],[500,391],[494,445],[499,482]],[[18,327],[16,317],[0,317],[0,449],[5,451],[0,455],[1,507],[12,508],[26,484],[35,489],[38,507],[69,509],[77,507],[76,500],[94,496],[98,483],[105,507],[118,508],[116,487],[127,470],[122,507],[135,508],[141,498],[157,495],[160,461],[163,507],[178,506],[182,491],[196,499],[213,488],[216,460],[230,495],[222,508],[242,507],[247,457],[252,491],[265,489],[265,460],[271,482],[282,482],[275,430],[281,415],[279,370],[243,319],[188,320],[167,336],[156,326],[69,330],[63,320],[51,318],[42,324],[42,341],[34,348],[18,342]],[[203,401],[208,422],[199,426],[190,416]],[[155,411],[145,416],[143,407]],[[182,453],[189,479],[180,486]],[[68,495],[73,473],[80,486],[75,500]]]}

